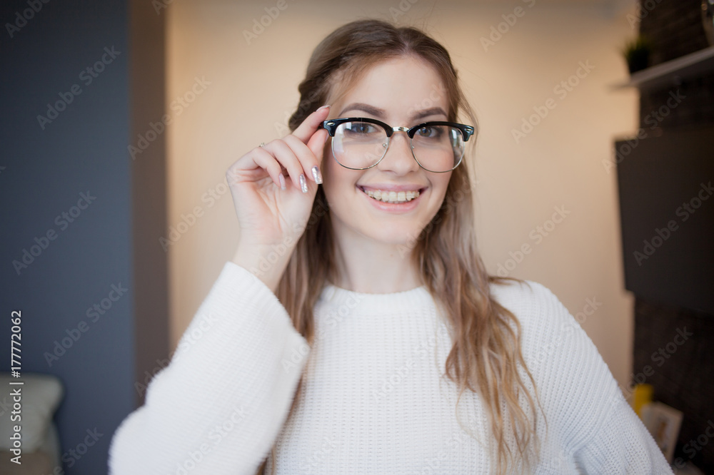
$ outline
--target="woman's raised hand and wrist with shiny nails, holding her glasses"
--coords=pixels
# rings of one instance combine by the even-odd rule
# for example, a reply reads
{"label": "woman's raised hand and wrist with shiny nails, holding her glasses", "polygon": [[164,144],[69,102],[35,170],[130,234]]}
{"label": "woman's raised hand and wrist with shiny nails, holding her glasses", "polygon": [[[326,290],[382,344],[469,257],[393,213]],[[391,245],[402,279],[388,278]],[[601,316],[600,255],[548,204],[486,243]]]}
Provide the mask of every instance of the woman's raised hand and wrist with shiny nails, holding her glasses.
{"label": "woman's raised hand and wrist with shiny nails, holding her glasses", "polygon": [[328,114],[329,106],[319,108],[293,133],[253,148],[226,172],[241,227],[233,262],[251,270],[273,291],[305,230],[322,183],[328,134],[318,126]]}

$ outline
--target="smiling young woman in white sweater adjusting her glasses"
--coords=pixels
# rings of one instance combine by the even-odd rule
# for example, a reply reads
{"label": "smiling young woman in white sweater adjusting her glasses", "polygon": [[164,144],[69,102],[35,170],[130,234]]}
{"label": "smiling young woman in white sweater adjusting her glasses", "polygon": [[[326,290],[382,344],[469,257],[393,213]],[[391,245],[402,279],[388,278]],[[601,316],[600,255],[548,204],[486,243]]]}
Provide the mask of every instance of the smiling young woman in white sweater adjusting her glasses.
{"label": "smiling young woman in white sweater adjusting her glasses", "polygon": [[486,272],[443,46],[356,21],[299,90],[228,170],[235,257],[111,473],[671,473],[558,299]]}

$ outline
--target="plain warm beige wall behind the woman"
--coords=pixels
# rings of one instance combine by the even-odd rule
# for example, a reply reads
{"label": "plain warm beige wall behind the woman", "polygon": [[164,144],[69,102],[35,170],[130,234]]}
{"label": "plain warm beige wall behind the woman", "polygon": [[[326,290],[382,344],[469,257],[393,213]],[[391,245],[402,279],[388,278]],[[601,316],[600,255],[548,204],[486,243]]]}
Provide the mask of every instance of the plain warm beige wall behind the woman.
{"label": "plain warm beige wall behind the woman", "polygon": [[[203,213],[193,225],[182,225],[186,233],[169,245],[172,347],[236,246],[229,192],[218,194],[223,185],[216,190],[226,168],[286,133],[298,82],[318,41],[347,21],[391,19],[400,5],[411,5],[287,0],[248,45],[243,30],[276,3],[176,0],[161,13],[169,16],[167,103],[190,91],[196,77],[210,81],[196,86],[204,89],[187,108],[169,112],[169,225],[176,227],[181,214],[196,207]],[[485,51],[481,37],[515,6],[525,14]],[[446,45],[476,108],[478,238],[488,269],[496,273],[499,264],[509,264],[509,252],[529,244],[531,252],[510,275],[550,287],[573,315],[583,312],[587,299],[601,302],[582,325],[620,384],[630,375],[633,300],[623,291],[615,173],[602,160],[613,155],[614,136],[636,127],[637,93],[608,88],[627,76],[618,48],[635,32],[625,18],[629,6],[421,0],[397,18],[401,25],[426,24]],[[563,98],[553,88],[581,61],[594,68]],[[512,129],[549,98],[555,108],[516,143]],[[207,194],[211,189],[217,199]],[[538,233],[555,206],[570,214],[536,243],[531,232]]]}

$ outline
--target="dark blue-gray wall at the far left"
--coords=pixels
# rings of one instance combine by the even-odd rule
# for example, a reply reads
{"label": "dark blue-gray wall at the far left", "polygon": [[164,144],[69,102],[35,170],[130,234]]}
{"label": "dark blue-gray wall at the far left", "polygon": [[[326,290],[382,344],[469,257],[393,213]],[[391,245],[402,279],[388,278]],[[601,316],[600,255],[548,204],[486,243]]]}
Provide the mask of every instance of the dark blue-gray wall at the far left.
{"label": "dark blue-gray wall at the far left", "polygon": [[[0,32],[0,341],[9,347],[9,315],[21,310],[22,372],[55,374],[66,390],[56,415],[62,452],[71,461],[66,473],[104,474],[111,434],[136,400],[132,183],[126,153],[129,2],[36,3],[41,9],[12,38],[6,27]],[[26,1],[4,1],[2,24],[14,23],[16,12],[28,8]],[[121,53],[109,62],[105,47]],[[109,64],[88,84],[91,76],[80,73],[103,55]],[[46,116],[47,104],[59,101],[59,93],[74,84],[81,93],[43,130],[37,116]],[[96,199],[89,206],[83,201],[84,210],[73,209],[81,193]],[[71,223],[57,218],[77,211]],[[31,252],[35,238],[49,230],[55,239],[45,242],[41,253],[35,247],[39,255],[18,275],[13,261],[21,261],[23,250]],[[129,290],[103,315],[88,315],[90,307],[110,296],[112,285]],[[68,331],[76,336],[82,321],[86,332],[50,365],[45,353],[53,352]],[[8,371],[3,354],[0,371]],[[69,455],[94,428],[103,434],[98,443],[79,460]]]}

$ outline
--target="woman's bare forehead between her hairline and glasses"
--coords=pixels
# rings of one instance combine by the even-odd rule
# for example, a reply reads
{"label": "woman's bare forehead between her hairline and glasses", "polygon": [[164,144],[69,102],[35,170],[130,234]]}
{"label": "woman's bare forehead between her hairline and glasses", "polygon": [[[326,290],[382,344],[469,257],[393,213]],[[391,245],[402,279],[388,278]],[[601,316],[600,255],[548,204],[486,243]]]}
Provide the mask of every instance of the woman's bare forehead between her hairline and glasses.
{"label": "woman's bare forehead between her hairline and glasses", "polygon": [[419,111],[431,108],[448,113],[446,86],[441,76],[431,64],[414,56],[374,64],[336,99],[333,103],[336,116],[351,115],[342,111],[352,103],[383,109],[385,116],[378,118],[385,121],[408,121]]}

